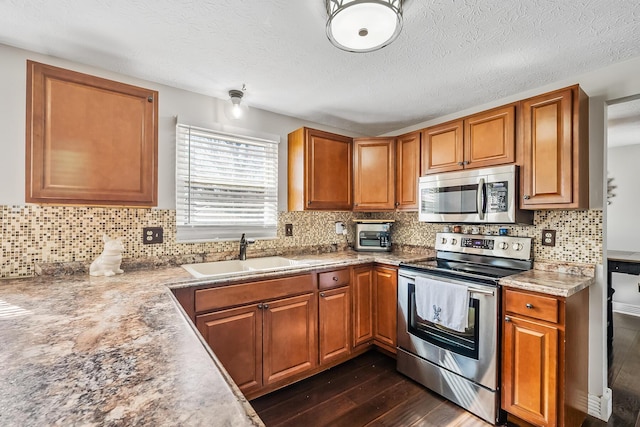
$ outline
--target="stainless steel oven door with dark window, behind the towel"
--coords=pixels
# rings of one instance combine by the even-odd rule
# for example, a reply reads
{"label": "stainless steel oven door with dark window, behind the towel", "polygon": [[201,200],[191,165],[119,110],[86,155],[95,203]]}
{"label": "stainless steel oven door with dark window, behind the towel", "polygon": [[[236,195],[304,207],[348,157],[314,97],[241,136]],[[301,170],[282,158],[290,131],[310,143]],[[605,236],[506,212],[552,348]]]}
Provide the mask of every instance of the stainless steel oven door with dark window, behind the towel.
{"label": "stainless steel oven door with dark window, behind the towel", "polygon": [[[415,277],[462,283],[469,287],[469,328],[457,332],[416,313]],[[473,280],[400,270],[398,275],[398,347],[491,390],[498,388],[499,289]]]}

